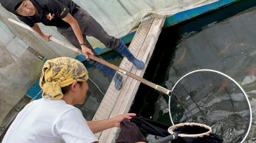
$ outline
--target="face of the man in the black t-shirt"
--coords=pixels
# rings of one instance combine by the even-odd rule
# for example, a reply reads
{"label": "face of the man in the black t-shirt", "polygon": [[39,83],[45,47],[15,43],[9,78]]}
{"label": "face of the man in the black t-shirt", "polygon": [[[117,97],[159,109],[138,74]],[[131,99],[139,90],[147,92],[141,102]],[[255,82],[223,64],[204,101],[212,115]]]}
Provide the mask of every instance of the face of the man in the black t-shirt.
{"label": "face of the man in the black t-shirt", "polygon": [[30,0],[25,0],[21,5],[15,10],[16,14],[22,16],[33,16],[35,15],[35,7]]}

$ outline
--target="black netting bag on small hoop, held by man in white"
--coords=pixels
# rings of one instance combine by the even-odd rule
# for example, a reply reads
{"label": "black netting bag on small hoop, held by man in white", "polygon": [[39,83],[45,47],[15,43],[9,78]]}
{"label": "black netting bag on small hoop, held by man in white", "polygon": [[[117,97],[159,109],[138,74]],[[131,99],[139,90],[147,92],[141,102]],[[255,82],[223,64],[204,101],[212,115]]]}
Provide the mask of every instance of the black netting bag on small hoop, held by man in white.
{"label": "black netting bag on small hoop, held by man in white", "polygon": [[[116,134],[116,143],[135,143],[146,141],[143,134],[151,134],[160,137],[153,143],[165,143],[171,141],[171,143],[222,143],[222,138],[216,134],[204,135],[203,137],[178,137],[173,140],[173,137],[170,137],[168,128],[170,125],[166,123],[161,123],[151,119],[143,117],[132,117],[130,121],[124,119],[120,123],[120,129]],[[209,131],[208,128],[202,126],[179,126],[173,130],[176,134],[202,134]],[[147,141],[146,141],[147,142]]]}

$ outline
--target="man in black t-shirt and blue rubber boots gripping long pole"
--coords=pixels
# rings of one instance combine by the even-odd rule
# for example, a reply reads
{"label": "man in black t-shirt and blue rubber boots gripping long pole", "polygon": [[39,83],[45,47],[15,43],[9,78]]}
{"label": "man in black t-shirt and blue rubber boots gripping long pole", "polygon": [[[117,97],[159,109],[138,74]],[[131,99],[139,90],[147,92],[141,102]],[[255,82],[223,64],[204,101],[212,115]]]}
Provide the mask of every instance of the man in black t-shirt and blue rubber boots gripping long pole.
{"label": "man in black t-shirt and blue rubber boots gripping long pole", "polygon": [[49,41],[51,35],[43,33],[36,23],[41,22],[44,25],[57,27],[61,35],[76,48],[83,51],[90,64],[114,78],[117,90],[122,87],[122,76],[120,74],[115,76],[115,70],[88,59],[88,54],[97,57],[100,57],[100,55],[95,53],[86,36],[99,39],[106,47],[112,48],[125,56],[138,69],[144,68],[144,62],[136,59],[120,39],[109,36],[90,14],[72,0],[0,0],[0,3],[47,41]]}

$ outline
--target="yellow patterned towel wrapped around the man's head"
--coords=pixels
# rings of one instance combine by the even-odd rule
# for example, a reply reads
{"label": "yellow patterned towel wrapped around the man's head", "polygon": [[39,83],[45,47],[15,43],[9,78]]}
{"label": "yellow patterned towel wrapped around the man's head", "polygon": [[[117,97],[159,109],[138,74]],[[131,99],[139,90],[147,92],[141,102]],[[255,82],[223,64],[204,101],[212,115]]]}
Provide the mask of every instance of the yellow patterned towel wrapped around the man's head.
{"label": "yellow patterned towel wrapped around the man's head", "polygon": [[61,57],[47,60],[43,65],[40,77],[42,97],[49,95],[48,99],[59,100],[63,97],[61,88],[74,81],[87,81],[88,71],[78,60]]}

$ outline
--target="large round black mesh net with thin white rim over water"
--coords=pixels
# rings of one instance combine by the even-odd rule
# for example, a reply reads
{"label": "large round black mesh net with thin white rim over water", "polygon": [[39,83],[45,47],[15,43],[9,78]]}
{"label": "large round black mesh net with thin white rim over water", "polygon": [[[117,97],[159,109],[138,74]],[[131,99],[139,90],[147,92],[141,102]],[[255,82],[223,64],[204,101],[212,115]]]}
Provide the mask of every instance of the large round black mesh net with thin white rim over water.
{"label": "large round black mesh net with thin white rim over water", "polygon": [[198,70],[181,78],[172,90],[169,110],[174,124],[206,124],[226,143],[241,142],[249,130],[246,95],[230,77],[215,71]]}

